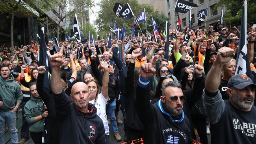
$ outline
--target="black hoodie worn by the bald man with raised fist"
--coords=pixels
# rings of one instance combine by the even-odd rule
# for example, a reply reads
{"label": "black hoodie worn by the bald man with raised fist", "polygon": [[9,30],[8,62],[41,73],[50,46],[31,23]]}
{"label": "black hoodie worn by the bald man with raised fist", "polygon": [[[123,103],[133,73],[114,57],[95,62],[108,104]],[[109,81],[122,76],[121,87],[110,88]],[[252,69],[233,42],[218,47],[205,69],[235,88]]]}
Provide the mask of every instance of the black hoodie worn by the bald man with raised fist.
{"label": "black hoodie worn by the bald man with raised fist", "polygon": [[88,113],[79,111],[74,102],[60,94],[53,94],[56,115],[60,122],[60,144],[104,144],[105,129],[102,120],[96,114],[96,107],[88,103]]}

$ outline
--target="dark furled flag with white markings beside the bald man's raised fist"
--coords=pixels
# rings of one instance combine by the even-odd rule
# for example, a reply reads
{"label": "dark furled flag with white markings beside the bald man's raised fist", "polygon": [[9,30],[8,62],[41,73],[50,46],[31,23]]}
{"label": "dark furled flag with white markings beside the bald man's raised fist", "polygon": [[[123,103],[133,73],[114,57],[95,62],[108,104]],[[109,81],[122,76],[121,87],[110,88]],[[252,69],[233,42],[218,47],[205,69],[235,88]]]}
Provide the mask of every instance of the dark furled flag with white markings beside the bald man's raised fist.
{"label": "dark furled flag with white markings beside the bald man's raised fist", "polygon": [[49,61],[50,52],[46,48],[45,44],[45,32],[44,28],[40,30],[40,37],[37,34],[39,41],[39,66],[45,66],[46,72],[44,75],[44,89],[50,93],[50,73],[52,73],[52,66]]}

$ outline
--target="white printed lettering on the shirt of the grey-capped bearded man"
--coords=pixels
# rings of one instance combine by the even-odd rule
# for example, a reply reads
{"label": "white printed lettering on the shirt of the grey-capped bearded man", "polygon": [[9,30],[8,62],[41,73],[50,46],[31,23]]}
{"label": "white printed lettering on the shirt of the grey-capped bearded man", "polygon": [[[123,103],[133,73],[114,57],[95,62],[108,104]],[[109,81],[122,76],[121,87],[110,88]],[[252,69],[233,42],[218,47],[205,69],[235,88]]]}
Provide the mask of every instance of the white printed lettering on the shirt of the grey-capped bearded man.
{"label": "white printed lettering on the shirt of the grey-capped bearded man", "polygon": [[256,124],[246,123],[240,121],[237,118],[233,118],[234,129],[242,130],[242,133],[249,137],[254,137],[256,133]]}

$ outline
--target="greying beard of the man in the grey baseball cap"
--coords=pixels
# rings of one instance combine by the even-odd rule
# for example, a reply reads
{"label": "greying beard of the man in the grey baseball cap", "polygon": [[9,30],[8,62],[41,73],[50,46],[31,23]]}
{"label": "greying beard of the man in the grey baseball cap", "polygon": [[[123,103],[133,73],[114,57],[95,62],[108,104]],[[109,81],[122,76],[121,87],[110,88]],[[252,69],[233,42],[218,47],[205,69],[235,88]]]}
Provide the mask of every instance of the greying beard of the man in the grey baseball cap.
{"label": "greying beard of the man in the grey baseball cap", "polygon": [[[237,95],[232,92],[232,100],[242,107],[243,109],[250,109],[254,103],[254,98],[252,96],[246,96],[242,100],[237,97]],[[245,102],[244,100],[252,100],[252,102]]]}

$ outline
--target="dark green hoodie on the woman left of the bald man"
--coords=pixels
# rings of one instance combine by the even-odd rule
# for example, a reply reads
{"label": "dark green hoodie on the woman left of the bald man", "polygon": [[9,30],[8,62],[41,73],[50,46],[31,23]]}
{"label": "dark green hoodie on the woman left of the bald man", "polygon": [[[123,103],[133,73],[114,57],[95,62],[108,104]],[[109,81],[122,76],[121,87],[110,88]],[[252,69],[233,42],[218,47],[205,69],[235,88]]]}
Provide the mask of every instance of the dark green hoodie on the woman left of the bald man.
{"label": "dark green hoodie on the woman left of the bald man", "polygon": [[[31,99],[26,103],[24,107],[24,111],[25,111],[24,116],[28,124],[30,125],[29,130],[34,133],[43,132],[44,131],[43,119],[35,122],[35,117],[40,116],[41,114],[43,114],[43,112],[45,112],[43,100],[41,98],[40,99],[35,98],[32,94],[30,95],[30,98]],[[37,103],[39,107],[43,110],[43,112],[38,107]]]}

